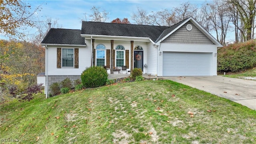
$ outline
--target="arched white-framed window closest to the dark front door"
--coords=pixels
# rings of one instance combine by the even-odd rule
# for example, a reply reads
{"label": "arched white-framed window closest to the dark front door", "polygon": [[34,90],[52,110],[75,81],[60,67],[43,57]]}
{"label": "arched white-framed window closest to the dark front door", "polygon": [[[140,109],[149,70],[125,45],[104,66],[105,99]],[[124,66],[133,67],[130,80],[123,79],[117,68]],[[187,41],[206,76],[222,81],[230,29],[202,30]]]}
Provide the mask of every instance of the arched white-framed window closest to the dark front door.
{"label": "arched white-framed window closest to the dark front door", "polygon": [[125,65],[125,48],[122,45],[116,46],[116,67],[121,67]]}

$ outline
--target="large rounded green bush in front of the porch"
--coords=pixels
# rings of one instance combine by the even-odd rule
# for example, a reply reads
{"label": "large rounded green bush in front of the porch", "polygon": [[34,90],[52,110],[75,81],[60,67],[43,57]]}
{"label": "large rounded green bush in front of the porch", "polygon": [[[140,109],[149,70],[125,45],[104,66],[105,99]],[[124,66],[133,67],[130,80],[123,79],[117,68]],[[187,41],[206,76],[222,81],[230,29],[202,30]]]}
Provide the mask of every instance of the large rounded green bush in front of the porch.
{"label": "large rounded green bush in front of the porch", "polygon": [[104,86],[108,80],[108,73],[102,66],[86,68],[81,74],[82,84],[86,88]]}

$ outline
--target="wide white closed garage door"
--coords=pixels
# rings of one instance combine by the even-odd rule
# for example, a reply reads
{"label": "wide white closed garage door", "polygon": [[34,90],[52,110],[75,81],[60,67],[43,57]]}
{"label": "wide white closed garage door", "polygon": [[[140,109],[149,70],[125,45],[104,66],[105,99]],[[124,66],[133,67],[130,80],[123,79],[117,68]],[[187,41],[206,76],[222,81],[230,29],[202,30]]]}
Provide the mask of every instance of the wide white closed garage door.
{"label": "wide white closed garage door", "polygon": [[163,52],[163,76],[210,76],[212,53]]}

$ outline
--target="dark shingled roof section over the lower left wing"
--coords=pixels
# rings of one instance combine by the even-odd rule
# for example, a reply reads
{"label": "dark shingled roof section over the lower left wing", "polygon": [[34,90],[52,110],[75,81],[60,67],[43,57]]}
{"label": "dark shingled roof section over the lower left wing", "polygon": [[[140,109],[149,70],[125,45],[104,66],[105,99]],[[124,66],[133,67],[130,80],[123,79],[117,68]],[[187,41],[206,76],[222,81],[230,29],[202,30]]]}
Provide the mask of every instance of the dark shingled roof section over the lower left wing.
{"label": "dark shingled roof section over the lower left wing", "polygon": [[85,42],[84,38],[81,37],[81,30],[51,28],[41,44],[85,45]]}

